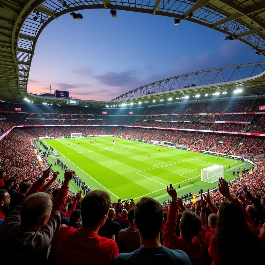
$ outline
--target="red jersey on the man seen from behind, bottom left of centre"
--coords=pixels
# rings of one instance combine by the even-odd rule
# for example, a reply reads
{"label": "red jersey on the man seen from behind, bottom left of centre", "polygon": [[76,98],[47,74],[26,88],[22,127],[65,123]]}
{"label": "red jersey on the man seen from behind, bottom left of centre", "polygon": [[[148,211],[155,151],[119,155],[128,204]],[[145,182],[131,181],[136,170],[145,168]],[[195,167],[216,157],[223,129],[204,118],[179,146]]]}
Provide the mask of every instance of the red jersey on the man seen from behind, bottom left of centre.
{"label": "red jersey on the man seen from behind, bottom left of centre", "polygon": [[114,240],[68,226],[58,231],[52,241],[51,251],[56,264],[81,264],[84,261],[89,264],[111,264],[119,254]]}

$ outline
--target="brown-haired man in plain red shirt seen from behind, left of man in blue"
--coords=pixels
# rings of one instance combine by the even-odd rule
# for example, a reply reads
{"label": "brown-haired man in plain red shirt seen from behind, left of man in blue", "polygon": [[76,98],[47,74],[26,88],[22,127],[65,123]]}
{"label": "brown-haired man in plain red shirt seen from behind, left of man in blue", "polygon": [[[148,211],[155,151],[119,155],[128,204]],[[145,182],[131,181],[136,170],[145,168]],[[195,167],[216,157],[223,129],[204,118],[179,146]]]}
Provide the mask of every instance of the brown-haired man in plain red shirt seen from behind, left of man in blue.
{"label": "brown-haired man in plain red shirt seen from behind, left of man in blue", "polygon": [[[107,219],[111,199],[107,192],[94,190],[81,203],[82,225],[78,228],[61,226],[51,247],[51,259],[55,264],[111,264],[119,254],[112,239],[101,237],[98,230]],[[62,255],[67,249],[67,255]]]}

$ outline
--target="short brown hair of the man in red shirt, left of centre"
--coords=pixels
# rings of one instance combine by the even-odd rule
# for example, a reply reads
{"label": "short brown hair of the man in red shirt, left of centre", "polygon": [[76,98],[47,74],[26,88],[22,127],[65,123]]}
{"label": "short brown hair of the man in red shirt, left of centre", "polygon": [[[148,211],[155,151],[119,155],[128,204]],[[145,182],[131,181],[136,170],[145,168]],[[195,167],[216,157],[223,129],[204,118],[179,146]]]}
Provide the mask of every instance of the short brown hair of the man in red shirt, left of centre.
{"label": "short brown hair of the man in red shirt, left of centre", "polygon": [[95,227],[107,215],[110,205],[111,198],[107,192],[94,190],[87,193],[81,202],[82,224],[85,227]]}

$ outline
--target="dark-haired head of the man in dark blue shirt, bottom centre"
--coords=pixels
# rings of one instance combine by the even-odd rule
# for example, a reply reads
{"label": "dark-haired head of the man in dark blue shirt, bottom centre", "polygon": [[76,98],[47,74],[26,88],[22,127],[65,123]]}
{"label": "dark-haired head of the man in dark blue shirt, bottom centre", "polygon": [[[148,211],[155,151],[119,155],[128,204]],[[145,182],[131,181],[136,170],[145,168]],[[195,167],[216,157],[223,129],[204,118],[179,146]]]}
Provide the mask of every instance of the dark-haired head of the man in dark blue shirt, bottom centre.
{"label": "dark-haired head of the man in dark blue shirt, bottom centre", "polygon": [[143,238],[153,240],[158,236],[163,217],[162,206],[152,198],[144,197],[134,207],[135,222]]}

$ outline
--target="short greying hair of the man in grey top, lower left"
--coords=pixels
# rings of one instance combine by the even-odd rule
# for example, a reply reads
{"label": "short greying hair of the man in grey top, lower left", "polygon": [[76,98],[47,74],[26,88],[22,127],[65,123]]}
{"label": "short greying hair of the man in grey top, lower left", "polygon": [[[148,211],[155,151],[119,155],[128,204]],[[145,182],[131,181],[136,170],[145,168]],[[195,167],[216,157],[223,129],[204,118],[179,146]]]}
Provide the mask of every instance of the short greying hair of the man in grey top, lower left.
{"label": "short greying hair of the man in grey top, lower left", "polygon": [[41,219],[50,213],[51,197],[48,193],[38,192],[30,195],[21,209],[21,224],[24,227],[35,226]]}

